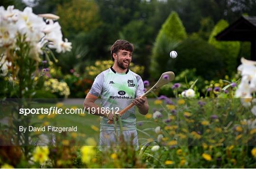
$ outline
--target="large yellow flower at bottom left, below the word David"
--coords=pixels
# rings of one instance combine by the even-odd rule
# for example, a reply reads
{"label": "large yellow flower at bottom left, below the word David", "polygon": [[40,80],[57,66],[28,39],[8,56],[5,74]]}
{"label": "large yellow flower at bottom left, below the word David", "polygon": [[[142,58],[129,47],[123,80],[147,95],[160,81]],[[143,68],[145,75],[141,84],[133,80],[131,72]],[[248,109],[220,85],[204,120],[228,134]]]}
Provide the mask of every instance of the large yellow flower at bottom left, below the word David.
{"label": "large yellow flower at bottom left, below the word David", "polygon": [[49,149],[47,146],[37,146],[33,153],[33,160],[40,164],[48,160]]}

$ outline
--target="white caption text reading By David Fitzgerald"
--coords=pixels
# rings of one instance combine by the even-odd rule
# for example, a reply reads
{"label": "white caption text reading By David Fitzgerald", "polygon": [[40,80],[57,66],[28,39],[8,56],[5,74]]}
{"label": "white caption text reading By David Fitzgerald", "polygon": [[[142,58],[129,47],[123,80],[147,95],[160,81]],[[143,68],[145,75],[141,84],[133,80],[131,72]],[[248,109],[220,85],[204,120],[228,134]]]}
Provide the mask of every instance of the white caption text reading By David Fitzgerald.
{"label": "white caption text reading By David Fitzgerald", "polygon": [[48,132],[63,132],[63,131],[77,131],[77,126],[72,126],[72,127],[54,127],[54,126],[40,126],[40,127],[33,127],[33,126],[28,126],[28,127],[23,127],[23,126],[19,126],[19,131],[25,133],[26,130],[28,129],[28,131],[48,131]]}

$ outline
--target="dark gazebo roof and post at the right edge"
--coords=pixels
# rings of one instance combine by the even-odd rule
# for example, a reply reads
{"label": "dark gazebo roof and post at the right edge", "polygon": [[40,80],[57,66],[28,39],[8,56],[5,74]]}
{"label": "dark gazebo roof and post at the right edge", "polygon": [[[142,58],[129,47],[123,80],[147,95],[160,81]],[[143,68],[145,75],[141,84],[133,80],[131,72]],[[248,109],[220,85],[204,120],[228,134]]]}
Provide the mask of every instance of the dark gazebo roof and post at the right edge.
{"label": "dark gazebo roof and post at the right edge", "polygon": [[251,42],[251,59],[256,60],[256,17],[242,16],[215,37],[219,41]]}

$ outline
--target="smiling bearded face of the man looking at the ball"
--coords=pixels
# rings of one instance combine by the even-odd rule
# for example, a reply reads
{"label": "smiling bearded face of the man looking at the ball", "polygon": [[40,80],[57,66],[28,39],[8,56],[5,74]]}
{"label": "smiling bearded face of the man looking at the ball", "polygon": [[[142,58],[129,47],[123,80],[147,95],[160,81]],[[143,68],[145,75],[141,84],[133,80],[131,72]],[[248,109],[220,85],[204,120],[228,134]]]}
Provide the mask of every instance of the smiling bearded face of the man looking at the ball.
{"label": "smiling bearded face of the man looking at the ball", "polygon": [[126,50],[119,50],[116,53],[116,58],[118,66],[122,69],[126,69],[130,65],[132,59],[132,52]]}

